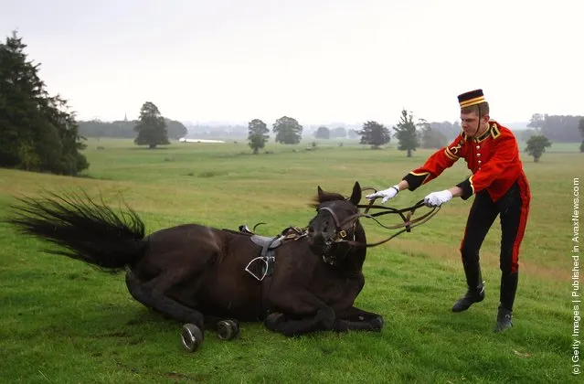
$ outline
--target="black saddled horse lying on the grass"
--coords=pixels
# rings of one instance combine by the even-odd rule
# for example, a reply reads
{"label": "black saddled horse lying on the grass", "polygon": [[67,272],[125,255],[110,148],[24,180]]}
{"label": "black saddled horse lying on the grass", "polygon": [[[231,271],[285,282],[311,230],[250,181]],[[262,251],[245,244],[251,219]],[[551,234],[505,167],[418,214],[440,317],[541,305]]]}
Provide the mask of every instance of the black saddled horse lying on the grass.
{"label": "black saddled horse lying on the grass", "polygon": [[[115,213],[87,195],[19,198],[9,222],[59,246],[48,251],[126,271],[133,298],[185,324],[183,344],[195,350],[205,328],[221,338],[239,332],[239,321],[263,321],[274,332],[380,331],[381,315],[354,306],[363,289],[366,234],[351,197],[317,189],[316,215],[307,228],[275,237],[250,230],[185,224],[144,233],[131,209]],[[247,229],[247,228],[246,228]]]}

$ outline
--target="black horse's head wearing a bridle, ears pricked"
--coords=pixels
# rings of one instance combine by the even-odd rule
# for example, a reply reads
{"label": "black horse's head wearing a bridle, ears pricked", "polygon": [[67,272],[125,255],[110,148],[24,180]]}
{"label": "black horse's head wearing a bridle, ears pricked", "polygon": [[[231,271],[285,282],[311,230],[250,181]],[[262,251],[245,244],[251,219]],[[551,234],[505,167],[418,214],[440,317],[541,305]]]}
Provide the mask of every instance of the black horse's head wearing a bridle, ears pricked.
{"label": "black horse's head wearing a bridle, ears pricked", "polygon": [[325,262],[336,264],[348,254],[347,241],[365,237],[358,223],[357,204],[361,200],[361,187],[356,182],[348,199],[338,193],[324,192],[318,187],[315,200],[313,207],[317,214],[308,224],[310,249],[314,254],[322,256]]}

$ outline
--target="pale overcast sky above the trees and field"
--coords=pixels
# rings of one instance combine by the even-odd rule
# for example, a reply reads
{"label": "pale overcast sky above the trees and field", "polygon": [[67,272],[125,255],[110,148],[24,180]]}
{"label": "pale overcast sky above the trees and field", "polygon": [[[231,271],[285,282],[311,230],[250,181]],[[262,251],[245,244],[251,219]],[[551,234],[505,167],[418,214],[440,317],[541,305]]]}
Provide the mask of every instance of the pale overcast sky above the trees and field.
{"label": "pale overcast sky above the trees and field", "polygon": [[582,0],[0,0],[80,120],[455,121],[584,114]]}

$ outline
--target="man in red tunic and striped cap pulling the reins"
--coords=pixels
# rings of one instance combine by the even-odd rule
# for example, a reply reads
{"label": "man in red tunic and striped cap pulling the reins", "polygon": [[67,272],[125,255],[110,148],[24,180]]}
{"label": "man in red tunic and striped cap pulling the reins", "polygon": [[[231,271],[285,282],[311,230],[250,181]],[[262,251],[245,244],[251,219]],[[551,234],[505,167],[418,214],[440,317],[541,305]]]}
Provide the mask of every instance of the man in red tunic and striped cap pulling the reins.
{"label": "man in red tunic and striped cap pulling the reins", "polygon": [[462,93],[458,101],[462,121],[462,132],[458,137],[431,155],[424,165],[409,172],[397,185],[366,197],[383,197],[381,202],[385,203],[398,195],[400,190],[413,191],[430,182],[463,158],[473,175],[455,187],[430,193],[424,201],[430,207],[437,207],[452,197],[466,200],[475,195],[460,247],[468,290],[452,306],[453,312],[465,311],[484,299],[479,250],[494,219],[500,217],[501,292],[494,331],[502,332],[512,326],[519,246],[526,229],[531,194],[515,136],[508,128],[490,120],[489,104],[484,99],[483,91]]}

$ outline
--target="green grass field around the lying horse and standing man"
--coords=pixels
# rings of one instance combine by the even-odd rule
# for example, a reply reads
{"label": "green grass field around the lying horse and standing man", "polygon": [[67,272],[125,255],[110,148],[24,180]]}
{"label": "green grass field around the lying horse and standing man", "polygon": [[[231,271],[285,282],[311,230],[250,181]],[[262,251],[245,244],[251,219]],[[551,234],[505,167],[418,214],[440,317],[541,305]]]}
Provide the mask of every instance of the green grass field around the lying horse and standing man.
{"label": "green grass field around the lying horse and standing man", "polygon": [[[274,235],[313,216],[316,187],[350,194],[398,182],[430,155],[357,144],[270,144],[251,155],[243,143],[171,144],[147,150],[131,141],[90,139],[83,177],[0,169],[0,217],[15,196],[83,187],[114,207],[122,199],[147,230],[186,222],[237,229],[263,221]],[[103,149],[98,149],[98,146]],[[458,246],[471,201],[454,199],[438,216],[367,253],[357,306],[384,315],[380,334],[286,338],[242,325],[224,342],[207,332],[195,354],[180,344],[180,324],[133,301],[123,276],[42,253],[46,246],[0,225],[0,382],[24,383],[503,383],[577,382],[572,357],[573,179],[583,175],[578,144],[557,146],[540,163],[524,156],[532,189],[520,258],[515,326],[492,331],[499,298],[499,227],[481,254],[487,295],[462,314],[465,290]],[[393,206],[406,207],[468,175],[462,161]],[[364,221],[369,240],[388,235]]]}

